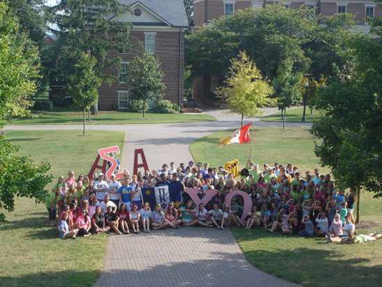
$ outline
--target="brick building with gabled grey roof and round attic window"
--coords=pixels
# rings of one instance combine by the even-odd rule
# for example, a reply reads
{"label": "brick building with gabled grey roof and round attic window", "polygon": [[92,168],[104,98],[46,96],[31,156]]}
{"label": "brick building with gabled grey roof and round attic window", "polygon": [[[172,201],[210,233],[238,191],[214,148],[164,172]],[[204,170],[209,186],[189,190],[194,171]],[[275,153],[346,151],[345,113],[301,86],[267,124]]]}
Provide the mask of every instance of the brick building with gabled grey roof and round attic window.
{"label": "brick building with gabled grey roof and round attic window", "polygon": [[[131,7],[131,13],[113,17],[113,21],[131,22],[133,30],[129,41],[140,40],[145,49],[160,60],[165,73],[163,82],[167,86],[164,99],[174,104],[183,104],[183,71],[184,71],[184,31],[189,28],[188,19],[182,0],[119,0]],[[119,83],[99,88],[99,108],[110,110],[112,104],[119,109],[126,108],[129,98],[129,87],[126,83],[126,65],[134,53],[122,54],[110,51],[110,57],[121,57],[120,67],[106,70],[117,76]]]}

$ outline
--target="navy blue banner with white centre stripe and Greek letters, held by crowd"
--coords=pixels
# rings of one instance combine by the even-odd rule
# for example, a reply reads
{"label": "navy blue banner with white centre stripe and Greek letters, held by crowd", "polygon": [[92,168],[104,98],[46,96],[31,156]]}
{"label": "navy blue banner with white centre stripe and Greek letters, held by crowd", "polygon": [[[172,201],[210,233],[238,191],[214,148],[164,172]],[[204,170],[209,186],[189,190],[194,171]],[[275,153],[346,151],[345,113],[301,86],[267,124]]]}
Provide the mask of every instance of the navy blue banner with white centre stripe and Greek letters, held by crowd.
{"label": "navy blue banner with white centre stripe and Greek letters, held by crowd", "polygon": [[151,211],[156,204],[160,204],[163,211],[174,202],[175,208],[182,207],[181,183],[169,184],[168,186],[156,186],[155,188],[142,188],[143,202],[149,202]]}

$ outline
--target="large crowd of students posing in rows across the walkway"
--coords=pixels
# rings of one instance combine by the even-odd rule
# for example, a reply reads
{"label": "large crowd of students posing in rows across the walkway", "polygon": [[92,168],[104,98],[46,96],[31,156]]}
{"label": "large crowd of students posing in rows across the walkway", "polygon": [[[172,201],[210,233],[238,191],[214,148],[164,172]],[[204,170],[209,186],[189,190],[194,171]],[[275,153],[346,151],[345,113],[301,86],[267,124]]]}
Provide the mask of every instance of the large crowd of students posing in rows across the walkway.
{"label": "large crowd of students posing in rows across the walkway", "polygon": [[[376,232],[356,235],[354,195],[334,190],[330,174],[322,175],[315,169],[313,174],[307,171],[302,177],[292,163],[263,167],[264,170],[259,170],[249,158],[247,166],[234,178],[222,166],[194,165],[190,161],[188,166],[163,164],[160,170],[132,176],[126,172],[119,181],[114,174],[105,179],[102,172],[94,174],[92,179],[83,174],[76,179],[70,171],[67,179],[58,178],[47,197],[50,224],[56,225],[58,211],[60,238],[103,232],[122,235],[140,233],[140,229],[150,232],[150,228],[178,229],[181,226],[223,230],[233,224],[247,230],[259,227],[272,233],[281,230],[285,234],[322,236],[327,243],[361,243],[382,237]],[[174,202],[169,202],[165,211],[160,204],[151,211],[149,204],[142,202],[142,188],[174,183],[181,183],[183,207],[175,208]],[[199,190],[200,198],[205,196],[206,189],[216,190],[216,195],[206,206],[195,206],[186,192],[188,188]],[[233,190],[247,192],[251,198],[252,208],[248,214],[242,214],[242,196],[235,195],[231,202],[226,202],[226,195]]]}

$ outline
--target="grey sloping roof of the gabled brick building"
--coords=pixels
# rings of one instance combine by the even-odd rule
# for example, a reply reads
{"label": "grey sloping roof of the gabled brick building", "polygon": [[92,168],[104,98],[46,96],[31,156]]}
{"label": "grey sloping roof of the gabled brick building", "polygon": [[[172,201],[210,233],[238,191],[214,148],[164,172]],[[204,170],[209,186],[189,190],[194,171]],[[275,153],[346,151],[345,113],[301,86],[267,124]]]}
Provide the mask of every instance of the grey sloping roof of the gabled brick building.
{"label": "grey sloping roof of the gabled brick building", "polygon": [[135,3],[141,3],[151,12],[165,19],[166,22],[174,27],[188,27],[187,15],[183,0],[118,0],[119,3],[132,6]]}

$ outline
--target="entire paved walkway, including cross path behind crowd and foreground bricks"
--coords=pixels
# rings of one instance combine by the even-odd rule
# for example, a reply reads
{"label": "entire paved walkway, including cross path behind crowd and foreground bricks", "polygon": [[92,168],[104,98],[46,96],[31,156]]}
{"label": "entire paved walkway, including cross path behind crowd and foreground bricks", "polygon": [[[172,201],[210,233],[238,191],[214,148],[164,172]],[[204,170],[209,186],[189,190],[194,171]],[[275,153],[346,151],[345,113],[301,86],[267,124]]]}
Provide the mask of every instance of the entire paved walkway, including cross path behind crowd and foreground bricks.
{"label": "entire paved walkway, including cross path behind crowd and foreground bricks", "polygon": [[[276,108],[265,108],[276,113]],[[204,107],[204,113],[217,122],[179,124],[88,125],[88,130],[123,131],[126,133],[122,167],[133,170],[134,150],[142,148],[150,169],[174,161],[187,164],[192,160],[188,146],[211,133],[240,126],[240,115],[225,115],[219,108]],[[255,126],[282,127],[282,123],[260,122]],[[288,126],[310,126],[288,123]],[[72,129],[81,125],[6,126],[3,130]],[[217,143],[218,144],[218,143]],[[101,147],[100,147],[101,148]],[[181,227],[151,233],[108,237],[103,270],[94,286],[296,286],[254,268],[244,258],[229,228]]]}

